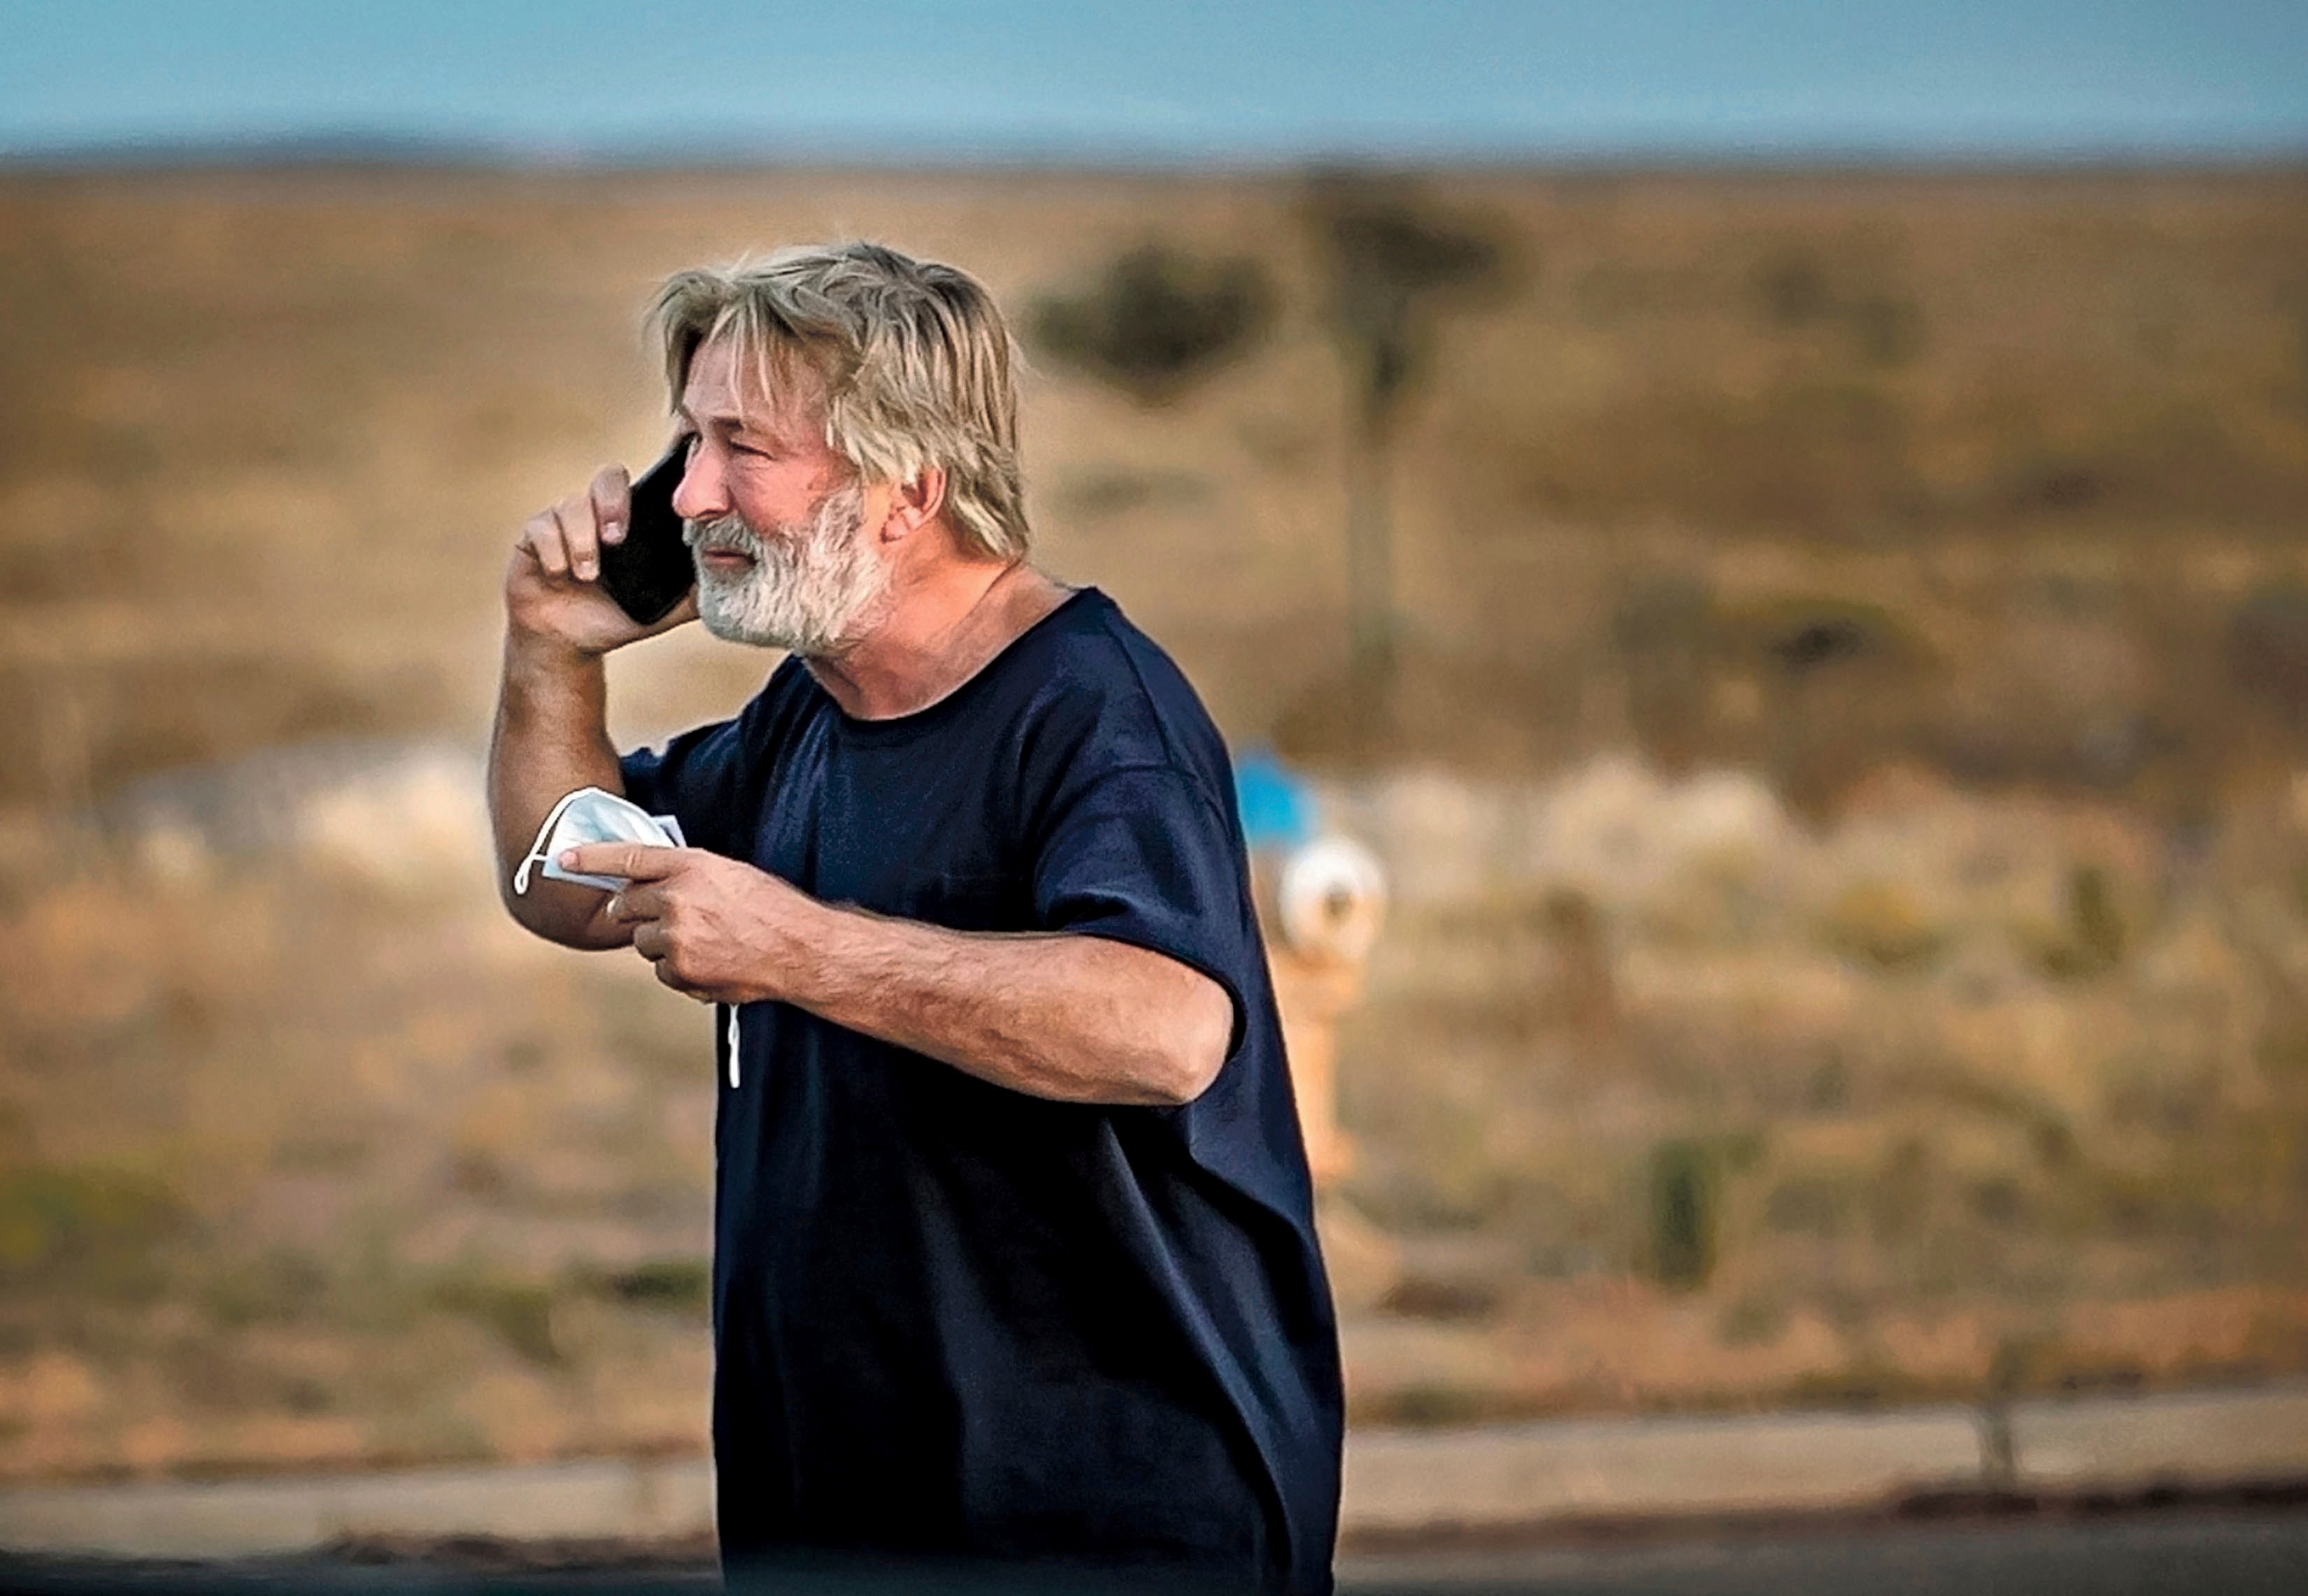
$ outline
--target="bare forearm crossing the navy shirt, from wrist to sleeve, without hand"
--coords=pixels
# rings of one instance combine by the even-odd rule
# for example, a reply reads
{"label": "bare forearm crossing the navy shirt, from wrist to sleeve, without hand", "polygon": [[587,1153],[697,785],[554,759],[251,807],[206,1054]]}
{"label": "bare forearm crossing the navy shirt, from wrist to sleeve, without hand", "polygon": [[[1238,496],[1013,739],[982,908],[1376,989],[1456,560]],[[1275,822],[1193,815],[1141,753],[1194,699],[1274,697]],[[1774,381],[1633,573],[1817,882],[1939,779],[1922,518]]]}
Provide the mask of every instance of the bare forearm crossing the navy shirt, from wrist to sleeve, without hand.
{"label": "bare forearm crossing the navy shirt, from wrist to sleeve, without hand", "polygon": [[1232,1001],[1177,959],[1101,936],[949,932],[819,904],[785,999],[833,1024],[1066,1102],[1191,1102]]}

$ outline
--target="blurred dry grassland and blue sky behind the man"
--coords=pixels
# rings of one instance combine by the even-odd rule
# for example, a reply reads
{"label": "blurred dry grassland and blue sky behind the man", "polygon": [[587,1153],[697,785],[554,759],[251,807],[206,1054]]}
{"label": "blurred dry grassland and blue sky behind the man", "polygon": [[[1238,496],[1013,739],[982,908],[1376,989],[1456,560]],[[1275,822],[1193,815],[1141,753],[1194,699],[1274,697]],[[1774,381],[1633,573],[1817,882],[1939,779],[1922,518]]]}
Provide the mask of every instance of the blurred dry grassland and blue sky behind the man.
{"label": "blurred dry grassland and blue sky behind the man", "polygon": [[655,281],[835,235],[1387,872],[1357,1423],[2308,1375],[2308,12],[9,32],[0,1483],[704,1451],[711,1019],[499,911],[496,595]]}

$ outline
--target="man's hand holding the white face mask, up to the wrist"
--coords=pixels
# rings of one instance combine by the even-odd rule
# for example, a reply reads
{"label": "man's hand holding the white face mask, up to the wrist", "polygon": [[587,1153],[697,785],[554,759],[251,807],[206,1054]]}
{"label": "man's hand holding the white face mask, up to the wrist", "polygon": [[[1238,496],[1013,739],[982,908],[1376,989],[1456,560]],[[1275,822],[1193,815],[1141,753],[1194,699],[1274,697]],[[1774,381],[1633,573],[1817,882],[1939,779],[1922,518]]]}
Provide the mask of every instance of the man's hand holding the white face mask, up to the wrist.
{"label": "man's hand holding the white face mask, up to the wrist", "polygon": [[704,1003],[780,996],[778,973],[805,946],[817,899],[769,872],[704,849],[589,842],[561,856],[586,876],[623,876],[605,918],[632,927],[632,948],[658,980]]}

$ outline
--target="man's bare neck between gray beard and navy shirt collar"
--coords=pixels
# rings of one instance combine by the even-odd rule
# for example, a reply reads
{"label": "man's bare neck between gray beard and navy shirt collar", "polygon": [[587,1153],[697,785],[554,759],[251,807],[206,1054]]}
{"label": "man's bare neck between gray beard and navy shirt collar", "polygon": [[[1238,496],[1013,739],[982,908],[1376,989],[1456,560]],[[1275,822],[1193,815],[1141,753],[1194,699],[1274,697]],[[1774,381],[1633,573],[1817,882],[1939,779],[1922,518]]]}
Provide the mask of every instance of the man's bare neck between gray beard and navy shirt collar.
{"label": "man's bare neck between gray beard and navy shirt collar", "polygon": [[949,567],[900,588],[870,637],[803,664],[852,720],[914,715],[983,671],[1069,593],[1025,560]]}

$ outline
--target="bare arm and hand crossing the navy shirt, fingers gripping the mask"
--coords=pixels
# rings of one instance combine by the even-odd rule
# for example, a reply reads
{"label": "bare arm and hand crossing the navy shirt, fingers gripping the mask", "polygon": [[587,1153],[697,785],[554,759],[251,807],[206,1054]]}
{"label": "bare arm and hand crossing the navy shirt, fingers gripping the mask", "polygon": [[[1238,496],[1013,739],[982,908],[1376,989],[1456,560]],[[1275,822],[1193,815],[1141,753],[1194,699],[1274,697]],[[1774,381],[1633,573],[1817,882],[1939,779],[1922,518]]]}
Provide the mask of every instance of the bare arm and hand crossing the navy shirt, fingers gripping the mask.
{"label": "bare arm and hand crossing the navy shirt, fingers gripping the mask", "polygon": [[1096,934],[889,920],[699,849],[593,844],[568,865],[632,881],[607,916],[676,992],[792,1003],[1036,1098],[1191,1102],[1235,1031],[1216,980]]}

